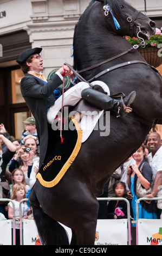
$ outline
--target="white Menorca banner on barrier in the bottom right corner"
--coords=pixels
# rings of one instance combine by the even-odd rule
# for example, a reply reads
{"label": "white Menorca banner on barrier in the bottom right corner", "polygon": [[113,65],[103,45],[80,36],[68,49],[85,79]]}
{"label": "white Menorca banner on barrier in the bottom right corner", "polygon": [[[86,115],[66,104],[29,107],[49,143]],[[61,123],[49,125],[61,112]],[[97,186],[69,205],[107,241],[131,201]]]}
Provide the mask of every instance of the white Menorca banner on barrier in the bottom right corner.
{"label": "white Menorca banner on barrier in the bottom right corner", "polygon": [[161,220],[138,220],[138,245],[162,245]]}

